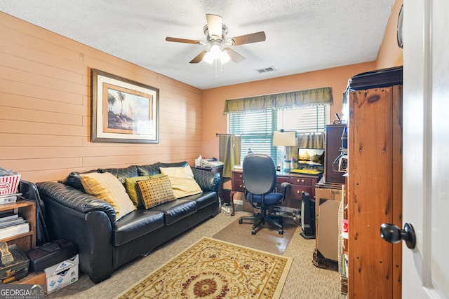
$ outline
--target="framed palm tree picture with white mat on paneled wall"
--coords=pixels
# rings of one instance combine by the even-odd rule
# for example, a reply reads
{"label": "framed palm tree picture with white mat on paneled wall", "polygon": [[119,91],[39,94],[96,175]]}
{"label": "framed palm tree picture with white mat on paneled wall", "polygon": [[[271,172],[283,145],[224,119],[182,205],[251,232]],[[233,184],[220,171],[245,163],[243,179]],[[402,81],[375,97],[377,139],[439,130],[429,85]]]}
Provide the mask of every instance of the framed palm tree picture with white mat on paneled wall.
{"label": "framed palm tree picture with white mat on paneled wall", "polygon": [[159,143],[159,88],[92,69],[92,142]]}

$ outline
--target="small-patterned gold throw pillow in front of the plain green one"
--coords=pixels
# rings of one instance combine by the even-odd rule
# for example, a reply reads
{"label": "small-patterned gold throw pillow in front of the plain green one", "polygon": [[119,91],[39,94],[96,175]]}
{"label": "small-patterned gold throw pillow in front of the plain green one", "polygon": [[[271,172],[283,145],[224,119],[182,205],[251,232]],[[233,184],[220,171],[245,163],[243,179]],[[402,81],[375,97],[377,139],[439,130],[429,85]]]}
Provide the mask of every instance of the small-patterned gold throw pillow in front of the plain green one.
{"label": "small-patterned gold throw pillow in front of the plain green one", "polygon": [[137,181],[137,184],[142,194],[145,209],[176,200],[167,176],[156,176],[151,179]]}

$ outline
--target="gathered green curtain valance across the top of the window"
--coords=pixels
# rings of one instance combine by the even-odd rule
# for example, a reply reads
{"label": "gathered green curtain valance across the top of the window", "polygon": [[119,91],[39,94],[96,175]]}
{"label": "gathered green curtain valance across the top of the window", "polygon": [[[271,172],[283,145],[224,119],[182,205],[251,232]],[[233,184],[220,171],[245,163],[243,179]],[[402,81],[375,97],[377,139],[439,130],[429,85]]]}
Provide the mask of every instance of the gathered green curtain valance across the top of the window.
{"label": "gathered green curtain valance across the top of the window", "polygon": [[289,109],[317,104],[333,104],[332,88],[313,88],[293,92],[227,99],[223,113],[265,111],[267,109]]}

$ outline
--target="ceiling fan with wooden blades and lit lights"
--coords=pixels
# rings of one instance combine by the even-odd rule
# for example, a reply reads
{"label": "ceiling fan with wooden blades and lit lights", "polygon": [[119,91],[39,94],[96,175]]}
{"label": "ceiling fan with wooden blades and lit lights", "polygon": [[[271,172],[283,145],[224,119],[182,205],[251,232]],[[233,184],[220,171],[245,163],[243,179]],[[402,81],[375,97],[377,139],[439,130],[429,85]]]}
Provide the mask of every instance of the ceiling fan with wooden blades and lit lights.
{"label": "ceiling fan with wooden blades and lit lights", "polygon": [[[255,32],[253,34],[246,34],[227,38],[227,26],[223,24],[220,15],[206,14],[207,24],[203,27],[203,32],[206,35],[206,41],[195,41],[192,39],[177,39],[175,37],[166,37],[166,41],[174,41],[177,43],[194,43],[197,45],[210,45],[209,50],[203,50],[199,55],[196,55],[190,63],[199,63],[206,61],[210,64],[216,59],[220,59],[222,63],[229,60],[239,63],[245,57],[236,53],[232,48],[226,46],[237,46],[245,43],[257,43],[265,40],[265,32]],[[224,48],[224,46],[226,48]]]}

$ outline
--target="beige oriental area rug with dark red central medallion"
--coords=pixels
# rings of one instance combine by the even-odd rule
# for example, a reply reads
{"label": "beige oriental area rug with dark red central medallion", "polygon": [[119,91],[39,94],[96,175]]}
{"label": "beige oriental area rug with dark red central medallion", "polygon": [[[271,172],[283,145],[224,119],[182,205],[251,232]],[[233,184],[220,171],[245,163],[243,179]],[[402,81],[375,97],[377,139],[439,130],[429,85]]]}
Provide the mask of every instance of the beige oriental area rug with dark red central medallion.
{"label": "beige oriental area rug with dark red central medallion", "polygon": [[292,260],[203,237],[118,298],[279,298]]}

